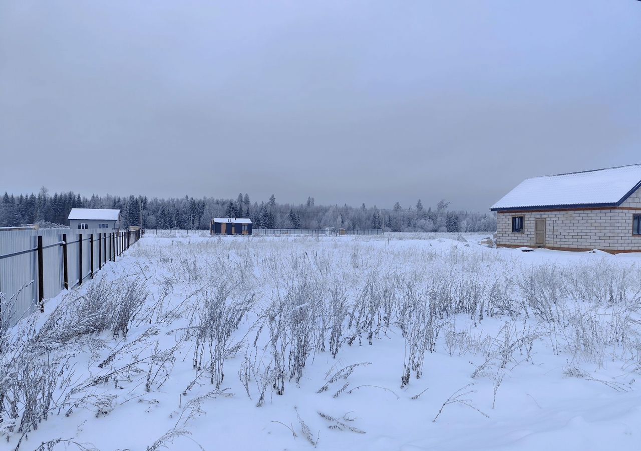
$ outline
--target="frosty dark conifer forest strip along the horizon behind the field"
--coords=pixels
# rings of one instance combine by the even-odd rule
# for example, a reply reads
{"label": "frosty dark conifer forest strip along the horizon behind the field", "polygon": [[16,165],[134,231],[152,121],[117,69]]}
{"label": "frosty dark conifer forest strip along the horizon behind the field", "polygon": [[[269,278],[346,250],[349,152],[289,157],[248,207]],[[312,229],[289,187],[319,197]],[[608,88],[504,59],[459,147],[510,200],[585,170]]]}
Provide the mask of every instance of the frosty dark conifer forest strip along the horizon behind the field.
{"label": "frosty dark conifer forest strip along the horizon behind the field", "polygon": [[151,198],[147,196],[97,196],[90,198],[73,191],[49,194],[46,187],[30,194],[4,192],[0,202],[0,226],[38,224],[63,227],[71,208],[115,208],[121,210],[121,226],[159,229],[201,229],[213,217],[249,217],[255,228],[319,229],[328,226],[347,229],[384,229],[390,232],[492,232],[493,213],[449,209],[441,200],[435,208],[424,208],[420,199],[408,208],[399,202],[391,209],[376,205],[316,205],[312,196],[304,203],[278,203],[272,194],[267,201],[254,201],[249,194],[238,198]]}

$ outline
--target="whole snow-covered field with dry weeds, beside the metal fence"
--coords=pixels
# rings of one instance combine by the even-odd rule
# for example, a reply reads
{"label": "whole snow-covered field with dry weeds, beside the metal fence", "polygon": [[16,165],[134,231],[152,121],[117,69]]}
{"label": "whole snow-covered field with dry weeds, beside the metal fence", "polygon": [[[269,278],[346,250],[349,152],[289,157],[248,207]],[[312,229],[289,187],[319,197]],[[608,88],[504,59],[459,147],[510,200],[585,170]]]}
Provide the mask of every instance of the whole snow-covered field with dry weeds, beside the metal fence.
{"label": "whole snow-covered field with dry weeds, beside the metal fence", "polygon": [[641,448],[641,256],[463,236],[147,234],[1,337],[0,448]]}

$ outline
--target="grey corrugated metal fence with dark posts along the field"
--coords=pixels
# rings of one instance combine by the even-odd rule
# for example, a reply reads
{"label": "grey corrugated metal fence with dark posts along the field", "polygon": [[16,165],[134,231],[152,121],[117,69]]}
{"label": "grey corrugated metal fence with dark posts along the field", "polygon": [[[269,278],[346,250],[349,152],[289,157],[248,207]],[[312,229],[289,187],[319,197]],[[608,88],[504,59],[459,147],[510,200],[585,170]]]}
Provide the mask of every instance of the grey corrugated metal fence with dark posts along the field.
{"label": "grey corrugated metal fence with dark posts along the field", "polygon": [[42,311],[43,300],[94,277],[142,234],[68,228],[0,232],[0,327],[12,327]]}

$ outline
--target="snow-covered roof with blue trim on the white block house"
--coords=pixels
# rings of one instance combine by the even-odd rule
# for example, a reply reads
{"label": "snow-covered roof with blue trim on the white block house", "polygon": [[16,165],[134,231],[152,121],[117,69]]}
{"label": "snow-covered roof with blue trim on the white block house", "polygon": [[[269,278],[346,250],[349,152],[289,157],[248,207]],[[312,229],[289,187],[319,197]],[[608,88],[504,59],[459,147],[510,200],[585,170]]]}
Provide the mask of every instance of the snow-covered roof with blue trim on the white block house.
{"label": "snow-covered roof with blue trim on the white block house", "polygon": [[641,164],[528,178],[490,210],[620,205],[641,185]]}

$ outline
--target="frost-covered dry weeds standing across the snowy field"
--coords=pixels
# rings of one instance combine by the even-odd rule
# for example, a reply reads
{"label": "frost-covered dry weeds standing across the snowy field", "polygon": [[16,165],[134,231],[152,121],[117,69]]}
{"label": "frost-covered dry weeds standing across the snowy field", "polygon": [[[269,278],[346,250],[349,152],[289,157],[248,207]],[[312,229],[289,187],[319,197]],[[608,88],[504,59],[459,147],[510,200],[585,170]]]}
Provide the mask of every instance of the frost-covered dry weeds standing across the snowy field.
{"label": "frost-covered dry weeds standing across the snowy field", "polygon": [[[400,238],[146,237],[114,269],[47,303],[44,316],[0,330],[0,433],[17,448],[53,415],[113,416],[143,400],[154,409],[162,392],[176,400],[178,420],[147,443],[158,449],[189,434],[229,386],[240,381],[235,396],[252,406],[276,404],[318,372],[317,359],[335,365],[316,396],[345,402],[367,391],[414,403],[434,395],[420,385],[442,371],[431,354],[473,361],[469,383],[487,379],[490,404],[477,407],[464,387],[435,400],[434,420],[453,404],[494,412],[499,387],[544,349],[566,359],[565,377],[621,389],[582,365],[641,373],[634,265],[526,263],[461,239]],[[370,362],[342,362],[347,350],[396,339],[404,345],[394,384],[403,391],[353,383]],[[172,383],[176,371],[187,382]],[[367,433],[347,414],[317,414],[303,421],[296,410],[292,420],[313,447],[321,427]]]}

